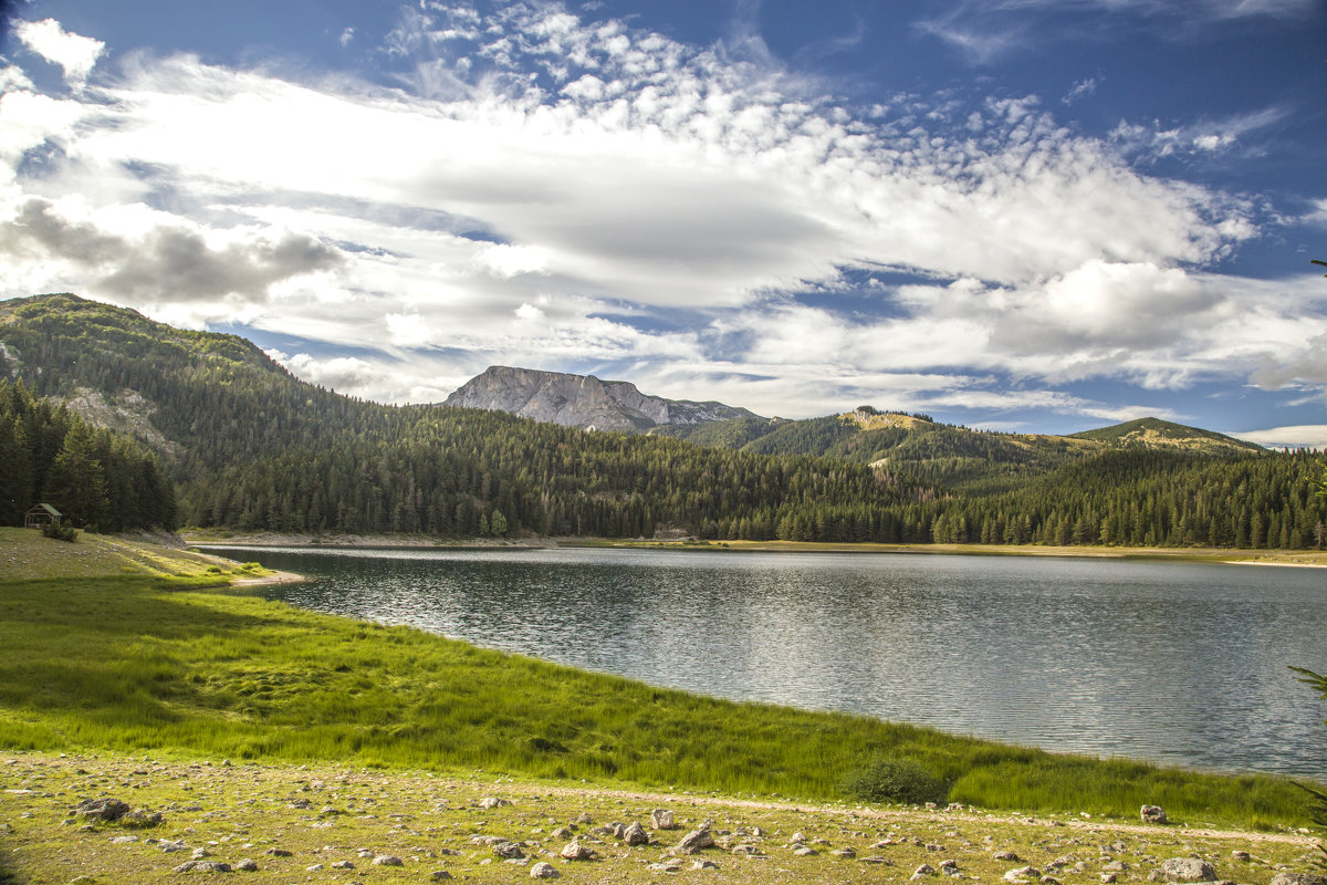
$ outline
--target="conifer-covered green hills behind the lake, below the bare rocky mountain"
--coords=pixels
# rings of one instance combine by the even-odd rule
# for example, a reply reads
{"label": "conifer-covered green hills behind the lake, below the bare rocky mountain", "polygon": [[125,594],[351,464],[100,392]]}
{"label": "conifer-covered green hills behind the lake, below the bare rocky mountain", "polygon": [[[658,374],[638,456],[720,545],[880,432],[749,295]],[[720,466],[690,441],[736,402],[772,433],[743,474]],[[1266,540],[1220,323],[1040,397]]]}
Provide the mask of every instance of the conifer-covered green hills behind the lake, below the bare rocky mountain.
{"label": "conifer-covered green hills behind the lake, below the bare rocky mountain", "polygon": [[[50,403],[88,390],[141,394],[155,434],[143,438],[162,441],[178,521],[198,527],[1294,548],[1316,545],[1327,517],[1306,482],[1311,454],[1154,419],[1048,437],[859,409],[677,433],[689,439],[587,433],[499,411],[356,401],[293,378],[235,336],[182,332],[74,296],[0,303],[0,365],[24,385],[7,387],[8,398],[31,389],[48,399],[24,409],[62,415],[52,421],[77,426]],[[119,475],[111,462],[143,451],[86,429],[77,446],[86,448],[86,434],[105,454],[107,482]],[[5,520],[25,510],[24,495],[48,494],[53,458],[42,451],[7,474],[19,491]],[[157,464],[133,463],[143,475]],[[106,525],[170,524],[165,504],[154,516],[117,513],[119,496],[107,491]]]}

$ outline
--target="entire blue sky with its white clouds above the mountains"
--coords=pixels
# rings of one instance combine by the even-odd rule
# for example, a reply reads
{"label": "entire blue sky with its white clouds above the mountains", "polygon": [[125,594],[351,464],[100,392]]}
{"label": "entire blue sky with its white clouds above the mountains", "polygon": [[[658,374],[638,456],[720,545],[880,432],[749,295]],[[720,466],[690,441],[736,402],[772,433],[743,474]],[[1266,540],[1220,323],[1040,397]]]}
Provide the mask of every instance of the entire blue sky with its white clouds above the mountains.
{"label": "entire blue sky with its white clouds above the mountains", "polygon": [[0,299],[441,402],[1327,446],[1322,0],[0,0]]}

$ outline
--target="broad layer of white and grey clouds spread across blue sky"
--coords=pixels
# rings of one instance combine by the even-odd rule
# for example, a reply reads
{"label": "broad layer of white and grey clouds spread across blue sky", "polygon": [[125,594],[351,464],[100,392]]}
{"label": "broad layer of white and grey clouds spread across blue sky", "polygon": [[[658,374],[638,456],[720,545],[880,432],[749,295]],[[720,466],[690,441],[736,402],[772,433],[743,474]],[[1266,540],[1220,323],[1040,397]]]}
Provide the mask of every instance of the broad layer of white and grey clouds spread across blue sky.
{"label": "broad layer of white and grey clouds spread across blue sky", "polygon": [[848,105],[767,54],[544,4],[403,8],[387,84],[107,69],[58,23],[17,33],[70,89],[0,74],[0,293],[353,345],[276,354],[348,393],[435,401],[506,362],[764,414],[1136,417],[1055,385],[1327,383],[1320,304],[1213,269],[1263,210],[1136,166],[1152,130],[1091,138],[1034,96]]}

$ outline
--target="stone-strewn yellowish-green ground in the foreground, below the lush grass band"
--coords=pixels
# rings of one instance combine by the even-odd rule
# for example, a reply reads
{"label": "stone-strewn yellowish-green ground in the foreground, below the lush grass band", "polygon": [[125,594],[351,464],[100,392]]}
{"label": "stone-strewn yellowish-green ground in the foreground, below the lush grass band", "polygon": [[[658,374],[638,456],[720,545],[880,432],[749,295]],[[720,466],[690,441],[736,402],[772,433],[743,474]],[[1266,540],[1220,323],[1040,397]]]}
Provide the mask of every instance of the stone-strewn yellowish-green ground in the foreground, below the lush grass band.
{"label": "stone-strewn yellowish-green ground in the foreground, below the lush grass band", "polygon": [[[1152,821],[1160,821],[1160,809]],[[0,881],[1327,885],[1314,837],[809,807],[486,772],[0,755]],[[8,877],[8,878],[7,878]]]}

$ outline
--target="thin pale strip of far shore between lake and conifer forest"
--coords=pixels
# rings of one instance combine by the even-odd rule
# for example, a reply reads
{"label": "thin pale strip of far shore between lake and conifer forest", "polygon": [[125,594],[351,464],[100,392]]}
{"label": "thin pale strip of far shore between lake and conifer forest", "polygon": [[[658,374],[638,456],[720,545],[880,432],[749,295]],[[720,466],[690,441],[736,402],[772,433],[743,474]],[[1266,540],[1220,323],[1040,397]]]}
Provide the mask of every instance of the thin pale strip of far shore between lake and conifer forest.
{"label": "thin pale strip of far shore between lake and conifer forest", "polygon": [[853,555],[920,555],[920,556],[1044,556],[1074,559],[1136,559],[1188,563],[1225,563],[1230,565],[1275,565],[1282,568],[1327,568],[1327,551],[1239,549],[1216,547],[1052,547],[1040,544],[882,544],[840,541],[695,541],[602,537],[537,537],[518,540],[438,539],[421,535],[234,535],[220,537],[202,532],[180,532],[187,547],[308,549],[483,549],[525,551],[563,548],[606,548],[693,552],[766,552],[766,553],[853,553]]}

